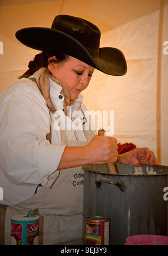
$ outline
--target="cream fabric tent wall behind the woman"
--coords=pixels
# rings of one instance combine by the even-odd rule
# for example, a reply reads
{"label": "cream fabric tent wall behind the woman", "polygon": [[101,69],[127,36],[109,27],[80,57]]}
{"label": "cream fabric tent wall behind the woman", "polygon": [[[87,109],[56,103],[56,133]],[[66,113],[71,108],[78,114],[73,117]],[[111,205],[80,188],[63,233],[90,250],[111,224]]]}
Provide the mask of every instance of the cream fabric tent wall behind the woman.
{"label": "cream fabric tent wall behind the woman", "polygon": [[120,143],[148,147],[160,164],[168,165],[168,49],[164,45],[168,0],[7,0],[0,4],[0,93],[25,72],[38,52],[17,42],[18,29],[50,27],[58,14],[90,20],[101,30],[101,47],[123,51],[128,72],[114,77],[95,70],[83,102],[90,111],[114,111],[114,135],[111,130],[108,135]]}

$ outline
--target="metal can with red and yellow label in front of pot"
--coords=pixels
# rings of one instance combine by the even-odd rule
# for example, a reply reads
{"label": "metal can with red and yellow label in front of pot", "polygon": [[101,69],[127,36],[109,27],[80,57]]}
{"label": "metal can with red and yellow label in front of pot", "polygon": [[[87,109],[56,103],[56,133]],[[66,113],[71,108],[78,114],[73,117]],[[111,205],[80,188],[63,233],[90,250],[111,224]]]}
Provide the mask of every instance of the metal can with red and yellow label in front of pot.
{"label": "metal can with red and yellow label in front of pot", "polygon": [[86,243],[108,245],[110,235],[110,218],[92,216],[86,218]]}

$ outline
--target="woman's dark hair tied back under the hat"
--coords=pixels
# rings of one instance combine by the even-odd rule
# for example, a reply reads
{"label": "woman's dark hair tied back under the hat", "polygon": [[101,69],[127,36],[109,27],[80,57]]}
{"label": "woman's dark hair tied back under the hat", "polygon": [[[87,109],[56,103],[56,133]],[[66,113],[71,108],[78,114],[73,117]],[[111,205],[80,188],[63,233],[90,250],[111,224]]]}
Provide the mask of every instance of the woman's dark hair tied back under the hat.
{"label": "woman's dark hair tied back under the hat", "polygon": [[[48,58],[55,56],[57,60],[48,61]],[[39,54],[36,54],[33,61],[29,62],[29,70],[27,70],[22,76],[18,78],[21,79],[22,77],[29,77],[34,74],[35,71],[39,70],[41,67],[48,67],[49,63],[56,62],[60,63],[63,61],[68,60],[69,56],[65,53],[54,52],[50,50],[45,50]]]}

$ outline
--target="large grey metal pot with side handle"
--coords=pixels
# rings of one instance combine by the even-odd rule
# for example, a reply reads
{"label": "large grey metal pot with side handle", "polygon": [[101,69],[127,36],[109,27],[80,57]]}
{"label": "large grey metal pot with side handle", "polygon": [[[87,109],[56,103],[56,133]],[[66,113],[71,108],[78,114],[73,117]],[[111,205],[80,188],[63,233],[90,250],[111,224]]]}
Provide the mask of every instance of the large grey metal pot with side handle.
{"label": "large grey metal pot with side handle", "polygon": [[[141,174],[135,174],[137,167],[125,164],[115,164],[117,173],[108,173],[106,164],[82,168],[84,237],[89,216],[110,218],[110,244],[124,244],[132,235],[167,235],[167,166],[143,165]],[[147,174],[149,169],[156,174]]]}

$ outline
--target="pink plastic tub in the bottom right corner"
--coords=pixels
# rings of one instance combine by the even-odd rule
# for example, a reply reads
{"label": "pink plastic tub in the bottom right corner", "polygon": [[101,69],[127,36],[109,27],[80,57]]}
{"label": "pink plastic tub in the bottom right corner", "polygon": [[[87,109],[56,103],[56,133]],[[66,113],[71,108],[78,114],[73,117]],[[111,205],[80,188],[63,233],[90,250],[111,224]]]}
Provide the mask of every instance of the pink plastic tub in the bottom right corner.
{"label": "pink plastic tub in the bottom right corner", "polygon": [[136,235],[126,239],[126,245],[168,245],[168,236]]}

